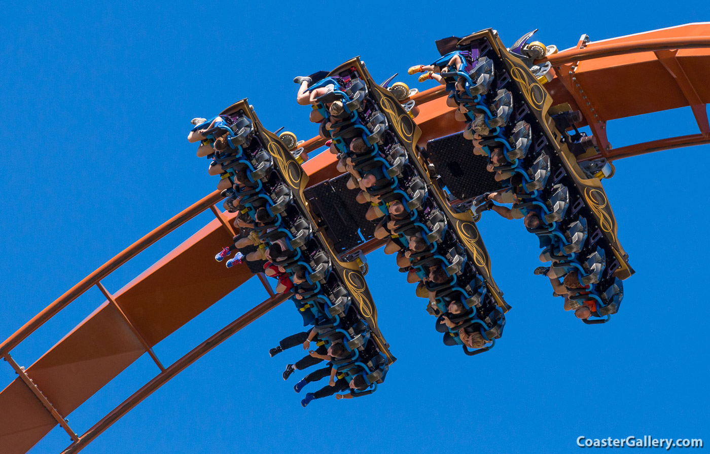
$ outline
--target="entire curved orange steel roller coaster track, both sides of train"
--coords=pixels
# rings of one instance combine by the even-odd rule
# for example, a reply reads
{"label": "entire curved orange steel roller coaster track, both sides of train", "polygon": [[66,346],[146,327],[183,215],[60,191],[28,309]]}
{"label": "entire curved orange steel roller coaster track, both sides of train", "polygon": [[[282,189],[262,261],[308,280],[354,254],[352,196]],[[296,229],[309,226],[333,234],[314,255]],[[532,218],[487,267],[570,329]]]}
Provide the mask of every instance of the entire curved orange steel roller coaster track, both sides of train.
{"label": "entire curved orange steel roller coaster track, both sides of train", "polygon": [[[639,33],[596,43],[580,40],[577,47],[548,58],[555,78],[545,84],[555,104],[568,103],[585,117],[578,126],[589,125],[600,152],[583,159],[606,157],[615,160],[687,145],[710,143],[706,104],[710,101],[710,23],[694,23]],[[446,106],[444,87],[413,96],[420,113],[416,121],[422,130],[420,143],[461,131]],[[655,140],[623,148],[608,145],[606,122],[650,112],[690,106],[699,133]],[[320,148],[324,140],[312,138],[307,151]],[[312,184],[338,175],[336,159],[321,153],[304,167]],[[138,240],[115,258],[72,287],[25,326],[0,344],[0,356],[18,373],[18,378],[0,392],[0,447],[3,454],[26,453],[52,428],[60,424],[72,439],[65,453],[84,448],[127,411],[155,389],[212,350],[247,324],[266,314],[288,296],[273,293],[259,275],[269,299],[246,312],[180,360],[165,367],[153,353],[153,345],[175,332],[187,321],[239,287],[252,275],[246,265],[227,269],[215,266],[212,253],[229,243],[233,215],[214,204],[219,192],[197,201],[153,232]],[[110,294],[101,280],[124,265],[155,241],[163,238],[206,209],[216,218],[171,253],[148,268],[126,286]],[[381,242],[363,245],[365,252]],[[11,350],[39,326],[96,285],[107,297],[101,306],[75,327],[26,370],[11,356]],[[65,421],[95,392],[104,387],[132,362],[148,353],[160,373],[92,428],[78,435]]]}

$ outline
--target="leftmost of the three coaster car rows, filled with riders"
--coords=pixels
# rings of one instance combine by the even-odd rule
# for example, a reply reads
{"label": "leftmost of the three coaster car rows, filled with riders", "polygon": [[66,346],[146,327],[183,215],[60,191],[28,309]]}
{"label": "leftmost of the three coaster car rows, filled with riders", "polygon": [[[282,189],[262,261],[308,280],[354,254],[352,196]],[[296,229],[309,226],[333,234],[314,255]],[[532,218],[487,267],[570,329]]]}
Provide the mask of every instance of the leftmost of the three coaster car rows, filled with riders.
{"label": "leftmost of the three coaster car rows, filled with riders", "polygon": [[[307,175],[300,161],[305,155],[295,138],[283,140],[263,128],[246,100],[212,120],[193,123],[188,140],[200,141],[197,154],[212,160],[212,175],[221,175],[224,206],[238,212],[240,237],[258,246],[247,260],[266,260],[263,269],[278,279],[277,291],[293,290],[291,299],[304,326],[314,326],[317,345],[344,345],[346,354],[331,359],[339,380],[359,384],[351,387],[352,396],[375,391],[395,358],[376,326],[362,261],[339,258],[316,231],[302,198]],[[232,250],[225,248],[217,259]]]}

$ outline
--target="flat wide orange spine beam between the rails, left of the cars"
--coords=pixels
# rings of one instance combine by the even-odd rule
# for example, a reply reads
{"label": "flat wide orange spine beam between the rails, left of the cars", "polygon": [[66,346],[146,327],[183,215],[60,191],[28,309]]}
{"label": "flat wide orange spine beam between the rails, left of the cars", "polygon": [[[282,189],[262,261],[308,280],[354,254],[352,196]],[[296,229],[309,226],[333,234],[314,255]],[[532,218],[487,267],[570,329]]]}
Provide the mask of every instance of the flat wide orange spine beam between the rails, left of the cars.
{"label": "flat wide orange spine beam between the rails, left of the cars", "polygon": [[[205,208],[213,203],[209,197]],[[231,236],[214,219],[116,292],[116,305],[148,347],[252,277],[246,265],[230,269],[214,266],[216,262],[208,252],[219,250],[229,241]],[[89,279],[87,284],[93,281]],[[105,302],[25,372],[58,414],[66,416],[145,352],[123,314]],[[0,409],[3,454],[25,453],[57,424],[19,379],[0,392]]]}

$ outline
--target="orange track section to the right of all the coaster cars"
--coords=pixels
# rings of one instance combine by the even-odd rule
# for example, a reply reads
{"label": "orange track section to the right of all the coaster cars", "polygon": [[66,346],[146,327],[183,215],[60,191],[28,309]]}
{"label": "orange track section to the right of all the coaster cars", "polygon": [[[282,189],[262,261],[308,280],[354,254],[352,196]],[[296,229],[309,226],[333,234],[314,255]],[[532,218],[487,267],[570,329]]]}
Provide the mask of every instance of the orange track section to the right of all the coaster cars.
{"label": "orange track section to the right of all the coaster cars", "polygon": [[[652,153],[710,143],[710,23],[691,23],[598,42],[580,41],[546,59],[555,78],[545,84],[555,104],[578,109],[599,143],[600,154],[582,160]],[[614,149],[607,121],[689,106],[698,135],[653,140]]]}

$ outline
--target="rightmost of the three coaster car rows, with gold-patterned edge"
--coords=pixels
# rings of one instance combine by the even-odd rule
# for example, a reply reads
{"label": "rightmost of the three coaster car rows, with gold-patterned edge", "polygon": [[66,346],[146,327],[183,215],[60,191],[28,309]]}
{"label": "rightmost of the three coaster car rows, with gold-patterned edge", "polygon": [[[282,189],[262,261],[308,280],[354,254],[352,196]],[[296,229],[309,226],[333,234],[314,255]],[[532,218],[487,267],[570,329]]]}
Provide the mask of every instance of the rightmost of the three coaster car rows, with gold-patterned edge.
{"label": "rightmost of the three coaster car rows, with gold-patterned edge", "polygon": [[[513,50],[535,55],[535,46],[530,50],[525,39]],[[542,46],[537,53],[545,55],[545,46],[537,44]],[[594,141],[578,133],[577,142],[570,143],[564,126],[570,119],[574,125],[574,113],[553,118],[564,125],[562,131],[551,126],[552,99],[542,87],[547,79],[536,78],[530,71],[531,65],[535,70],[532,57],[525,64],[525,55],[508,52],[494,31],[449,38],[439,43],[439,52],[442,60],[456,63],[439,68],[449,92],[447,104],[457,108],[459,121],[466,121],[464,137],[473,141],[473,153],[488,156],[488,170],[504,187],[474,199],[474,217],[493,209],[506,218],[524,218],[540,240],[540,259],[551,262],[536,274],[550,277],[555,295],[565,298],[564,309],[574,310],[585,323],[608,321],[623,299],[621,279],[633,270],[601,187],[608,166],[584,172],[569,151],[571,146],[594,146]]]}

